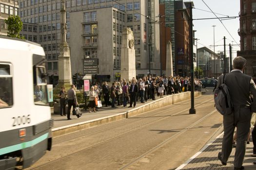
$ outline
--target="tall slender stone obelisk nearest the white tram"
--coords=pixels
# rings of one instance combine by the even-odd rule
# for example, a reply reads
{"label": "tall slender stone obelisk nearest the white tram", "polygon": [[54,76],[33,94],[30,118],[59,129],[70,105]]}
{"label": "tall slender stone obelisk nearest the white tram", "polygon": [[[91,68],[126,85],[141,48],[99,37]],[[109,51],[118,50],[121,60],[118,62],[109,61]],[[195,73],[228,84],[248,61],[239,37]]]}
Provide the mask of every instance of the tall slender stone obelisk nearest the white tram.
{"label": "tall slender stone obelisk nearest the white tram", "polygon": [[66,41],[67,24],[66,24],[66,8],[65,0],[61,0],[60,9],[60,27],[61,27],[61,42],[59,44],[59,83],[58,87],[70,87],[71,79],[71,64],[70,64],[70,50]]}

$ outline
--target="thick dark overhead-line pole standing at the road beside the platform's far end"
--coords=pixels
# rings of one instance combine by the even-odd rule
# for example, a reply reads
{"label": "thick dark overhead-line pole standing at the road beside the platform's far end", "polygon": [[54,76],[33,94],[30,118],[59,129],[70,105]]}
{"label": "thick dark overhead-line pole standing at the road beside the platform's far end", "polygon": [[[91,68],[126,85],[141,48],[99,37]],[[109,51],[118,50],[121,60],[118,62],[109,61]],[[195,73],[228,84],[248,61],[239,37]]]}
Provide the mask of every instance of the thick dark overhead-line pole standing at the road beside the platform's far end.
{"label": "thick dark overhead-line pole standing at the road beside the platform's far end", "polygon": [[190,20],[189,20],[189,51],[190,51],[190,76],[191,76],[191,108],[189,109],[189,114],[196,114],[196,109],[194,107],[194,63],[193,63],[193,18],[192,18],[192,4],[190,2]]}

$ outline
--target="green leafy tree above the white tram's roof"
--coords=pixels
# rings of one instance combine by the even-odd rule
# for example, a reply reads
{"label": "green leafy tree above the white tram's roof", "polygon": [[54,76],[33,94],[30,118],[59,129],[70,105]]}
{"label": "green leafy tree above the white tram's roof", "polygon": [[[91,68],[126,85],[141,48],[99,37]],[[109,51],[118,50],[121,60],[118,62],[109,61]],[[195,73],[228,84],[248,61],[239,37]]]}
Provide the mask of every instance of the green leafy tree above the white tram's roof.
{"label": "green leafy tree above the white tram's roof", "polygon": [[14,38],[22,38],[20,37],[20,31],[22,29],[23,23],[19,16],[11,16],[8,19],[4,20],[5,23],[8,25],[8,35]]}

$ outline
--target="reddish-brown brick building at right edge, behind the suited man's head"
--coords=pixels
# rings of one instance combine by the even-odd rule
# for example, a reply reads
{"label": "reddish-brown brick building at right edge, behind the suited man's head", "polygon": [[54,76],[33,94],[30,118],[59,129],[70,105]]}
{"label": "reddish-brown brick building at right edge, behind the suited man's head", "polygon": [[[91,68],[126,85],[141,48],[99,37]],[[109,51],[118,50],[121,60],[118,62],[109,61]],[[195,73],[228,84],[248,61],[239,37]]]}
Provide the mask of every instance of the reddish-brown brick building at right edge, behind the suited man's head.
{"label": "reddish-brown brick building at right edge, behind the suited man's head", "polygon": [[247,60],[245,74],[256,80],[256,0],[240,0],[240,51],[237,56]]}

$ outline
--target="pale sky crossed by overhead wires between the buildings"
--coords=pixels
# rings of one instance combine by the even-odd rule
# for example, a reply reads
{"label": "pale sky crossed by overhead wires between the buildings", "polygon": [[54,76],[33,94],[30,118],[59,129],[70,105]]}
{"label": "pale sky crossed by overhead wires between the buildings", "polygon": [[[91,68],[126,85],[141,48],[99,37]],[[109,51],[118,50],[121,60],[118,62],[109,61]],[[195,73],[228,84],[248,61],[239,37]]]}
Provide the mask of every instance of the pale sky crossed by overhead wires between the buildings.
{"label": "pale sky crossed by overhead wires between the buildings", "polygon": [[[197,30],[195,38],[198,38],[197,48],[208,47],[214,51],[214,29],[215,29],[215,52],[224,51],[224,36],[226,37],[226,45],[233,44],[233,57],[236,56],[236,51],[240,51],[240,37],[237,34],[239,28],[239,11],[240,0],[184,0],[193,1],[195,8],[193,9],[193,30]],[[206,4],[205,4],[205,3]],[[236,17],[236,19],[203,19],[198,18],[216,18],[211,10],[216,13],[217,17]],[[205,12],[205,11],[210,12]],[[224,15],[224,16],[223,16]],[[213,27],[216,25],[216,27]],[[232,35],[230,35],[229,33]],[[233,38],[234,39],[233,39]],[[211,47],[212,46],[212,47]],[[226,55],[229,56],[229,46],[226,46]]]}

